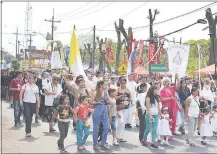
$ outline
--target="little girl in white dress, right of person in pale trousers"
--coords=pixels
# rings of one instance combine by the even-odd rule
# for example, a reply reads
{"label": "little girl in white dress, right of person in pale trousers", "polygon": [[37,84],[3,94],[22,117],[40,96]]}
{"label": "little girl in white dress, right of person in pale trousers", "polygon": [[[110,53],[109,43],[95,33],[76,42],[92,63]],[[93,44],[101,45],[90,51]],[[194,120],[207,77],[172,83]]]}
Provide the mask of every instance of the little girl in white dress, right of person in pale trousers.
{"label": "little girl in white dress, right of person in pale trousers", "polygon": [[203,113],[201,114],[201,127],[200,127],[200,135],[202,136],[202,145],[207,145],[205,142],[206,137],[212,137],[213,132],[210,124],[210,110],[208,107],[203,109]]}

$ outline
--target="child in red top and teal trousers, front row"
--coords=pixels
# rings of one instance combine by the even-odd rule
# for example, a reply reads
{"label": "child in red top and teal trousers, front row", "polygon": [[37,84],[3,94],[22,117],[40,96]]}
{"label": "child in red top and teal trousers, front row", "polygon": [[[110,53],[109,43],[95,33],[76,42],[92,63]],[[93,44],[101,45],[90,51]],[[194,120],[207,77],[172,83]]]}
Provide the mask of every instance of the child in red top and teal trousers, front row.
{"label": "child in red top and teal trousers, front row", "polygon": [[89,99],[86,95],[81,95],[78,99],[79,105],[75,109],[78,150],[86,150],[84,144],[89,136],[90,123],[88,122],[88,113],[92,112],[93,109],[90,109],[88,101]]}

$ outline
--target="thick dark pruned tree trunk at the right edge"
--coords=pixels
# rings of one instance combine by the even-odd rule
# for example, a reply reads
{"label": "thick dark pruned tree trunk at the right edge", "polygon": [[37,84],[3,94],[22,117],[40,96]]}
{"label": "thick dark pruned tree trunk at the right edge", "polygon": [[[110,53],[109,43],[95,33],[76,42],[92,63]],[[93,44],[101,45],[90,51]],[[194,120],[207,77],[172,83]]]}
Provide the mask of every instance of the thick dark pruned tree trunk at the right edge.
{"label": "thick dark pruned tree trunk at the right edge", "polygon": [[[217,24],[217,16],[213,18],[212,11],[210,8],[206,10],[206,19],[208,20],[209,24],[209,34],[210,34],[210,40],[211,40],[211,47],[210,47],[210,54],[209,54],[209,64],[214,64],[217,59],[217,41],[215,42],[216,39],[216,24]],[[215,53],[215,56],[214,56]],[[215,57],[215,59],[214,59]]]}

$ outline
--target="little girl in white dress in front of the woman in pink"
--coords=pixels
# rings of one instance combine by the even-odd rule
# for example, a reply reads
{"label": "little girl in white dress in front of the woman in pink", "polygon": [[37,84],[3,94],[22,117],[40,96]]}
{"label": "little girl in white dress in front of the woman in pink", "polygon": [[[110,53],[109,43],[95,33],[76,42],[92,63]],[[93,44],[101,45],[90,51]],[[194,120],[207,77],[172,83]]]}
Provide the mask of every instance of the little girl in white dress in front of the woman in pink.
{"label": "little girl in white dress in front of the woman in pink", "polygon": [[161,136],[161,145],[164,144],[164,138],[166,138],[166,145],[169,145],[168,139],[169,136],[172,135],[170,130],[170,124],[169,124],[169,112],[168,107],[162,107],[161,109],[162,116],[160,118],[160,125],[159,125],[159,135]]}

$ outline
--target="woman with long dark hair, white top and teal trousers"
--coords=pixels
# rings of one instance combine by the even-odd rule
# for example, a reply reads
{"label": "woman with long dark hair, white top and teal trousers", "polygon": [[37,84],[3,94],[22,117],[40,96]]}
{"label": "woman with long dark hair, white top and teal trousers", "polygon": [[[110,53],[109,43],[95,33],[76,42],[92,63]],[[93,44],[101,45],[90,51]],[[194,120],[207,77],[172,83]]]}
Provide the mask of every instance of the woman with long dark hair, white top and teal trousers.
{"label": "woman with long dark hair, white top and teal trousers", "polygon": [[146,95],[145,105],[147,110],[145,116],[146,129],[145,129],[142,144],[144,146],[147,145],[147,137],[151,131],[151,138],[152,138],[151,147],[158,148],[155,140],[157,137],[158,120],[159,120],[159,115],[161,115],[161,112],[160,112],[157,87],[149,88]]}

